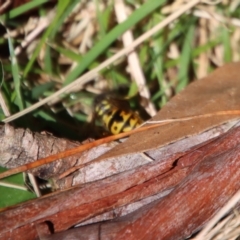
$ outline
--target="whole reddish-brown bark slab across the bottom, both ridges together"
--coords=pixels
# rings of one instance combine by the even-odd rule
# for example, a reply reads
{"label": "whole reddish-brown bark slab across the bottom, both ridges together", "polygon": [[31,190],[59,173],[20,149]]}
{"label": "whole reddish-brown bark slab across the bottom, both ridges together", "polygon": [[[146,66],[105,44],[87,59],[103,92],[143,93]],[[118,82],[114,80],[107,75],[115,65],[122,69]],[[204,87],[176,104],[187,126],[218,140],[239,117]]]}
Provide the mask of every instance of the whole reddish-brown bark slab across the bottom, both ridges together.
{"label": "whole reddish-brown bark slab across the bottom, both ridges together", "polygon": [[[187,237],[240,188],[239,143],[240,127],[185,156],[179,153],[164,162],[154,162],[5,210],[0,213],[0,225],[4,226],[0,229],[0,239],[12,236],[21,239],[27,235],[29,238],[25,239],[33,239],[38,235],[36,226],[43,222],[52,224],[55,232],[61,231],[177,184],[175,190],[150,205],[150,209],[146,207],[126,217],[128,222],[100,224],[97,236],[100,234],[102,239]],[[177,159],[178,165],[170,170]],[[85,229],[86,234],[92,231],[91,227],[80,229]]]}

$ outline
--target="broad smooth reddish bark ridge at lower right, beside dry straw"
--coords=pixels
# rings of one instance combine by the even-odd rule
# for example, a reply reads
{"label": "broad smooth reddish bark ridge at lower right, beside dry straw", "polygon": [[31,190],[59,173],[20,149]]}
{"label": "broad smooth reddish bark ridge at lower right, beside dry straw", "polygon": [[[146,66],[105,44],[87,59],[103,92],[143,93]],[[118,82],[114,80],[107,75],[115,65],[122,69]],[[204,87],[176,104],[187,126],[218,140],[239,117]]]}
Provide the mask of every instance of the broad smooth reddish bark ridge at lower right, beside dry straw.
{"label": "broad smooth reddish bark ridge at lower right, beside dry straw", "polygon": [[190,153],[196,164],[191,173],[169,195],[149,206],[115,221],[83,226],[46,239],[185,239],[240,189],[239,143],[240,127]]}

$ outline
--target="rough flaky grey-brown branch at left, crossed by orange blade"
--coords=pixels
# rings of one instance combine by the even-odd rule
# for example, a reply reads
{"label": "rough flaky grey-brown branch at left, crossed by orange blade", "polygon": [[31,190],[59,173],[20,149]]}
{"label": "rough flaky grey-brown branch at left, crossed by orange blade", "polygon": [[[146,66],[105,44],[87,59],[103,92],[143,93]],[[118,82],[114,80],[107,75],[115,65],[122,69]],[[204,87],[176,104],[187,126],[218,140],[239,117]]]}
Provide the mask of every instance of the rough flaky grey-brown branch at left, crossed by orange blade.
{"label": "rough flaky grey-brown branch at left, crossed by orange blade", "polygon": [[[29,129],[15,129],[9,124],[5,124],[0,127],[0,166],[18,167],[76,147],[78,144],[46,133],[34,133]],[[32,172],[41,178],[48,179],[74,166],[78,159],[79,155],[59,159],[58,162],[45,164]]]}

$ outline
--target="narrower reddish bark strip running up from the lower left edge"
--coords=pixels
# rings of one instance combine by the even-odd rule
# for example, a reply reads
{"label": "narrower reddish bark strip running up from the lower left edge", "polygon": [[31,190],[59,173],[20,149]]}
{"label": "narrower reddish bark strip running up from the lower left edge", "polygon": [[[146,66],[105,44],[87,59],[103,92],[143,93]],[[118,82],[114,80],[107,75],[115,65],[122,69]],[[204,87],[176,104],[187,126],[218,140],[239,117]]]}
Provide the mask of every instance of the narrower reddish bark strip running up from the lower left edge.
{"label": "narrower reddish bark strip running up from the lower left edge", "polygon": [[[149,183],[144,184],[145,181],[167,171],[175,159],[176,156],[163,163],[142,166],[139,169],[93,182],[84,187],[75,187],[5,210],[0,213],[0,225],[5,226],[0,229],[0,234],[11,229],[11,234],[23,236],[30,233],[32,228],[35,228],[34,224],[44,221],[50,221],[54,225],[55,231],[61,231],[113,207],[155,194],[161,188],[175,185],[176,181],[179,181],[179,178],[185,175],[186,171],[183,170],[181,174],[176,173],[178,178],[175,177],[170,180],[169,177],[166,178],[165,182],[167,184],[159,185],[158,179],[152,179]],[[151,184],[156,186],[150,188],[148,185]],[[136,186],[136,189],[131,189],[134,186]],[[150,191],[146,189],[141,192],[139,191],[141,187],[149,187]],[[126,191],[127,189],[130,189],[130,192]],[[122,200],[119,201],[120,199]],[[15,230],[16,232],[14,232]],[[37,233],[35,232],[35,234]],[[5,236],[0,235],[0,239],[4,239]]]}

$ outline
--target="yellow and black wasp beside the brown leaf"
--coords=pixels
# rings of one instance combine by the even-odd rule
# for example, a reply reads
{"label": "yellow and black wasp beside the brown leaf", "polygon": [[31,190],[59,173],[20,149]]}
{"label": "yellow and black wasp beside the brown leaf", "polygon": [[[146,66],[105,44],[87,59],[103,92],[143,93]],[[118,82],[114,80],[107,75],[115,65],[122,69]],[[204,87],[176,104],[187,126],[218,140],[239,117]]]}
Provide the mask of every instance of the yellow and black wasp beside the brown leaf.
{"label": "yellow and black wasp beside the brown leaf", "polygon": [[126,100],[100,96],[95,99],[95,116],[111,134],[128,132],[143,122]]}

